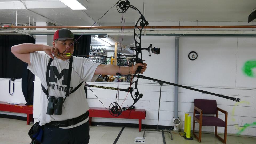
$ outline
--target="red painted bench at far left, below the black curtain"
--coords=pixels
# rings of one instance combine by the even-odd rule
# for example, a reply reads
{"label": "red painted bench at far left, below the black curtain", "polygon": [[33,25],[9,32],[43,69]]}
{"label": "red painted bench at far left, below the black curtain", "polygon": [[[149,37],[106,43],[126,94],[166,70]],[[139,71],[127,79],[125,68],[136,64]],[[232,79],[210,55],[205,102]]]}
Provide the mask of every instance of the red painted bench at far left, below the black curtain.
{"label": "red painted bench at far left, below the black curtain", "polygon": [[15,113],[24,113],[27,114],[27,125],[33,121],[33,105],[11,105],[7,102],[0,101],[0,111],[8,111],[8,112],[15,112]]}

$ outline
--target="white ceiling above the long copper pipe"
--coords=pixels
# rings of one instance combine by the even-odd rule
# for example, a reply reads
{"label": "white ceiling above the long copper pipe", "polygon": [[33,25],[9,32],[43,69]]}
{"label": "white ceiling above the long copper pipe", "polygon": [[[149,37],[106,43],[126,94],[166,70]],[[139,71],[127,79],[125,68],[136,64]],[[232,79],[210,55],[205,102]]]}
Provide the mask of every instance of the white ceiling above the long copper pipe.
{"label": "white ceiling above the long copper pipe", "polygon": [[[80,0],[86,5],[87,10],[71,10],[58,0],[22,1],[28,9],[49,19],[24,9],[20,1],[1,0],[0,23],[12,23],[13,10],[17,10],[18,23],[28,22],[30,17],[30,22],[34,18],[34,22],[54,20],[53,23],[61,26],[90,26],[117,2],[117,0]],[[248,21],[248,15],[256,7],[256,0],[130,0],[130,3],[143,13],[143,1],[145,1],[147,21]],[[121,16],[122,14],[118,13],[114,6],[98,23],[109,26],[120,25]],[[134,25],[138,18],[137,11],[128,9],[125,25]]]}

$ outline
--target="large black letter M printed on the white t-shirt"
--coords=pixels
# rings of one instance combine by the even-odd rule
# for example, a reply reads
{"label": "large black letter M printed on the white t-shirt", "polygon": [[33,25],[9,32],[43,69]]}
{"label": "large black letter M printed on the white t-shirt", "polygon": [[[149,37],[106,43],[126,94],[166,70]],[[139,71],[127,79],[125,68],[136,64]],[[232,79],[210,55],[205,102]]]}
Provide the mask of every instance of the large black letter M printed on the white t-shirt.
{"label": "large black letter M printed on the white t-shirt", "polygon": [[[57,67],[55,66],[50,66],[50,77],[49,77],[49,82],[55,82],[57,83],[57,78],[58,80],[61,79],[62,77],[63,80],[62,80],[62,85],[67,85],[67,77],[68,77],[68,72],[69,72],[69,69],[63,69],[61,71],[61,73],[59,73]],[[57,78],[55,78],[55,75]]]}

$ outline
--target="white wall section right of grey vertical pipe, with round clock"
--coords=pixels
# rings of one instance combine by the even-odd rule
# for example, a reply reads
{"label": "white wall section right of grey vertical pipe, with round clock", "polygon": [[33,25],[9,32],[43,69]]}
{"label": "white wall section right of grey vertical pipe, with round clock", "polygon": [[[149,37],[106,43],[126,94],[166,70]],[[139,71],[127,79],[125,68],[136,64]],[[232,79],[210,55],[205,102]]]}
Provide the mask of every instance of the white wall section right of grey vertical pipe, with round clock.
{"label": "white wall section right of grey vertical pipe, with round clock", "polygon": [[[179,99],[179,111],[192,115],[194,98],[216,99],[217,106],[228,111],[228,133],[237,134],[242,126],[255,122],[256,78],[248,77],[242,71],[246,61],[255,60],[255,40],[254,37],[182,37],[179,51],[179,83],[237,97],[241,102],[180,89],[179,92],[183,92],[185,97],[190,97],[190,100]],[[198,58],[195,61],[188,59],[190,51],[197,52]],[[194,95],[191,97],[190,93]],[[184,119],[184,116],[182,117]],[[220,117],[224,120],[224,115]],[[212,127],[204,127],[203,130],[214,131]],[[223,129],[220,128],[219,132],[223,132]],[[251,125],[239,134],[256,136],[256,126]]]}

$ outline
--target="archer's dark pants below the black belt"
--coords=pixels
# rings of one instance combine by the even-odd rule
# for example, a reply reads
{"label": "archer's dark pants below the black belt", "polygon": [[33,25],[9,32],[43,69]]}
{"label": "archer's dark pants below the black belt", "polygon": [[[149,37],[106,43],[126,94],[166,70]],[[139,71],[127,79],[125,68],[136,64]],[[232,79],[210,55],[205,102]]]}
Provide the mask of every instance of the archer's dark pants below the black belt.
{"label": "archer's dark pants below the black belt", "polygon": [[88,144],[89,130],[89,121],[70,129],[43,126],[42,144]]}

